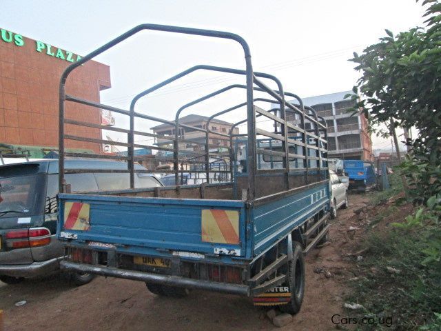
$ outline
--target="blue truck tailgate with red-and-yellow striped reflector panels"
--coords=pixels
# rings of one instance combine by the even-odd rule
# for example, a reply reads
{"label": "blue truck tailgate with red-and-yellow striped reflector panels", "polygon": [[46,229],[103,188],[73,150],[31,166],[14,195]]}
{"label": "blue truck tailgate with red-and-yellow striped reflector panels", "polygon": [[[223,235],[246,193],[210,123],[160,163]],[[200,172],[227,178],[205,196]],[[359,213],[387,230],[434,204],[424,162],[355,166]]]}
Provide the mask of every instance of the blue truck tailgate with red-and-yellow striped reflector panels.
{"label": "blue truck tailgate with red-and-yellow striped reflector panels", "polygon": [[111,243],[133,254],[245,255],[243,201],[59,194],[59,206],[60,239]]}

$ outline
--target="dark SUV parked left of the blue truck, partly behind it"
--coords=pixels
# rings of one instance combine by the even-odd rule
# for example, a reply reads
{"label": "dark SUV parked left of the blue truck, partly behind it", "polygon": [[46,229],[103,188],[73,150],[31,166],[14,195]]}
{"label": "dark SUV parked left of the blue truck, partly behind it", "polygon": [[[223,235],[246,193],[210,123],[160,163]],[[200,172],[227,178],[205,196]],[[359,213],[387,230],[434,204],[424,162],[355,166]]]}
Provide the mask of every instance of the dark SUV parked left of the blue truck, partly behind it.
{"label": "dark SUV parked left of the blue truck, partly behind it", "polygon": [[[122,170],[116,161],[65,160],[66,169]],[[135,169],[144,169],[136,165]],[[72,192],[130,188],[127,173],[66,174]],[[136,173],[136,188],[163,186],[152,174]],[[58,160],[0,166],[0,281],[17,283],[59,270],[63,247],[57,231]],[[91,274],[71,274],[78,285],[92,280]]]}

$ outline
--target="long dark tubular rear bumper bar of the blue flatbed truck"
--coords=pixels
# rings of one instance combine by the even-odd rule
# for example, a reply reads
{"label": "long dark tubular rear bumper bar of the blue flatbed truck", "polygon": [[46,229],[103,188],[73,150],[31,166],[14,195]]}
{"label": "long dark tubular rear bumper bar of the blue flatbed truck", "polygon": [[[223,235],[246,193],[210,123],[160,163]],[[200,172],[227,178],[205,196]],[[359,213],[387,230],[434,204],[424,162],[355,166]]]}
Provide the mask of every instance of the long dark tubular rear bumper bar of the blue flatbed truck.
{"label": "long dark tubular rear bumper bar of the blue flatbed truck", "polygon": [[166,274],[152,274],[150,272],[102,267],[99,265],[74,263],[65,260],[61,261],[60,266],[62,270],[67,270],[71,272],[87,272],[90,274],[99,274],[101,276],[132,279],[134,281],[145,281],[146,283],[171,285],[181,288],[197,288],[214,292],[238,294],[247,297],[249,297],[251,294],[250,288],[247,285],[217,283],[215,281],[203,281],[199,279],[189,279],[185,277],[170,276]]}

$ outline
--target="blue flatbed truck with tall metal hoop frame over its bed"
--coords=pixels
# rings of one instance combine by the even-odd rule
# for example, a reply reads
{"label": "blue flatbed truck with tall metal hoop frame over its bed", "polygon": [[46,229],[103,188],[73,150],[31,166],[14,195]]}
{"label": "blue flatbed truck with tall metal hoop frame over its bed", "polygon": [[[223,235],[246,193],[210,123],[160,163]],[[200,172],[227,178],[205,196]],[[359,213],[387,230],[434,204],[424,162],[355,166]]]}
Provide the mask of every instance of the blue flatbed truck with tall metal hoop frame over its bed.
{"label": "blue flatbed truck with tall metal hoop frame over its bed", "polygon": [[[65,93],[65,82],[73,70],[105,50],[142,30],[193,34],[236,41],[245,54],[245,70],[198,65],[140,92],[130,110],[115,108],[74,97]],[[136,102],[196,70],[242,75],[245,85],[234,84],[194,101],[176,112],[175,121],[136,112]],[[273,81],[272,90],[264,79]],[[181,113],[207,99],[243,89],[246,101],[212,114],[207,126],[180,123]],[[254,98],[254,92],[264,97]],[[294,97],[296,104],[285,97]],[[130,128],[106,127],[127,134],[127,143],[103,141],[70,134],[66,124],[99,128],[96,124],[76,121],[69,116],[66,103],[79,103],[106,109],[130,119]],[[274,104],[264,110],[256,103]],[[236,109],[245,108],[246,118],[234,123],[229,132],[210,128],[209,121]],[[210,108],[212,109],[212,108]],[[157,113],[157,112],[156,112]],[[272,129],[256,121],[262,117],[274,122]],[[291,120],[287,121],[287,117]],[[296,313],[300,310],[305,290],[305,261],[317,243],[327,240],[329,230],[329,172],[327,169],[327,127],[314,109],[303,106],[296,94],[285,92],[280,81],[269,74],[252,70],[251,54],[244,39],[237,34],[143,24],[101,46],[69,66],[60,82],[59,125],[59,222],[57,235],[65,245],[61,268],[75,272],[99,274],[144,281],[158,295],[183,296],[190,289],[212,290],[252,297],[256,305],[280,305]],[[165,123],[172,134],[152,134],[135,130],[136,120]],[[247,125],[247,132],[235,130]],[[306,124],[306,125],[305,125]],[[140,126],[136,126],[139,128]],[[199,131],[204,142],[192,140],[185,132]],[[85,132],[85,130],[83,130]],[[223,154],[225,170],[209,167],[212,157],[212,135],[228,142]],[[154,137],[170,141],[172,148],[140,145],[136,137]],[[110,143],[127,147],[127,155],[80,154],[65,151],[65,141],[89,144]],[[198,146],[184,152],[182,143]],[[178,183],[183,163],[197,164],[206,173],[199,185],[174,185],[161,188],[134,188],[134,148],[151,148],[172,152],[173,170]],[[186,156],[188,153],[192,154]],[[130,190],[70,193],[64,174],[88,172],[87,169],[65,169],[65,157],[96,157],[127,162]],[[179,166],[181,165],[181,167]],[[96,170],[94,170],[96,172]],[[110,170],[103,170],[110,172]],[[212,181],[210,172],[225,172],[231,179]]]}

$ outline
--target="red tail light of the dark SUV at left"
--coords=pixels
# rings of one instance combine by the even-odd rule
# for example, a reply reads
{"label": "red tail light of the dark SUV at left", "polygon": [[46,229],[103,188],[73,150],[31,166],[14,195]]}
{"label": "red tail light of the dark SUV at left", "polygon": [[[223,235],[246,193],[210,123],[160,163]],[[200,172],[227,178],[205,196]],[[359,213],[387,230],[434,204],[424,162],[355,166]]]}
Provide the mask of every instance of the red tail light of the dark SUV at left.
{"label": "red tail light of the dark SUV at left", "polygon": [[9,248],[29,248],[48,245],[50,231],[47,228],[30,228],[6,233],[6,244]]}

